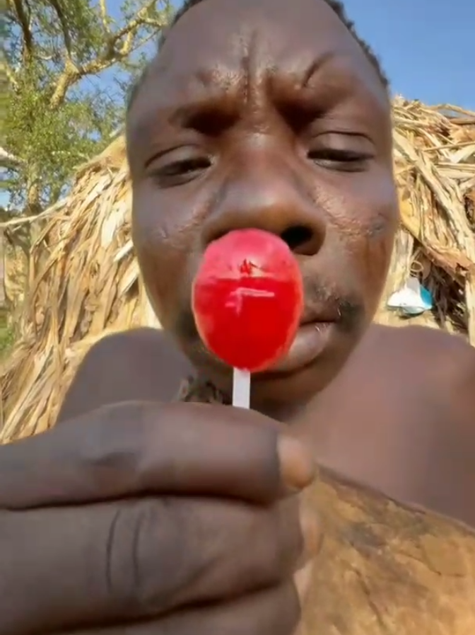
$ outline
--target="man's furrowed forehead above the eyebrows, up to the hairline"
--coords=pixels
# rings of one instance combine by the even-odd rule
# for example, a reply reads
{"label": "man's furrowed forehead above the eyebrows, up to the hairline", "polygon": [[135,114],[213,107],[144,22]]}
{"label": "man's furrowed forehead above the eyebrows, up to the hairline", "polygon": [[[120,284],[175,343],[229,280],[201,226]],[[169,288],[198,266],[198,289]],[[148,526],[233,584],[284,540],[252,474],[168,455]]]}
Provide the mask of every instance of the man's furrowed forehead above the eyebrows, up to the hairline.
{"label": "man's furrowed forehead above the eyebrows, up to the hairline", "polygon": [[373,65],[324,0],[202,0],[170,30],[138,110],[147,118],[157,105],[175,108],[223,91],[242,96],[279,80],[388,105]]}

